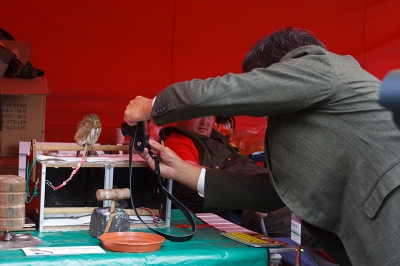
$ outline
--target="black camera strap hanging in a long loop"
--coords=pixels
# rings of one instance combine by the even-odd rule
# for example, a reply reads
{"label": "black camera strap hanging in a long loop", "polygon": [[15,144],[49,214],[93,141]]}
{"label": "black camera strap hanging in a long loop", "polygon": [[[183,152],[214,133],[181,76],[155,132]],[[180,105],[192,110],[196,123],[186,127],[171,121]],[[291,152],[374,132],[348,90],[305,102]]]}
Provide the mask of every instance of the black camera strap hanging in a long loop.
{"label": "black camera strap hanging in a long loop", "polygon": [[[131,137],[131,140],[129,142],[129,188],[131,190],[132,193],[132,154],[133,154],[133,143],[134,143],[134,138]],[[188,235],[183,235],[183,236],[174,236],[174,235],[169,235],[166,233],[163,233],[161,231],[158,231],[154,228],[149,227],[140,217],[139,213],[137,212],[135,205],[133,203],[133,195],[131,195],[131,203],[132,203],[132,208],[136,213],[136,216],[139,218],[139,220],[147,226],[147,228],[149,228],[151,231],[155,232],[156,234],[159,234],[163,237],[165,237],[166,239],[173,241],[173,242],[185,242],[190,240],[193,235],[196,233],[196,222],[193,219],[192,214],[190,213],[190,211],[186,208],[185,205],[183,205],[179,200],[177,200],[173,195],[171,195],[171,193],[168,192],[168,190],[163,186],[162,183],[162,179],[161,179],[161,175],[160,175],[160,161],[158,159],[157,156],[152,155],[153,159],[156,162],[156,169],[155,172],[157,173],[157,177],[158,177],[158,183],[160,184],[162,191],[164,192],[164,194],[167,196],[167,198],[169,198],[176,207],[178,207],[182,213],[185,215],[186,219],[189,221],[190,226],[192,227],[192,232]]]}

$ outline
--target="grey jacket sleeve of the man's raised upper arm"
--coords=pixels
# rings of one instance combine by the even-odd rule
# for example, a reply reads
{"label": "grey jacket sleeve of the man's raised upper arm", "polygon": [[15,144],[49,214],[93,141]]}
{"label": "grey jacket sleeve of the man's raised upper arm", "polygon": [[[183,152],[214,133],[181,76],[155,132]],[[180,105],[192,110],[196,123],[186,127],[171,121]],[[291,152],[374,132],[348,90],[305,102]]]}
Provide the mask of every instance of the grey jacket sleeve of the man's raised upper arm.
{"label": "grey jacket sleeve of the man's raised upper arm", "polygon": [[205,115],[257,117],[296,112],[333,93],[327,86],[333,79],[331,64],[327,51],[304,46],[268,68],[175,83],[157,95],[152,117],[163,125]]}

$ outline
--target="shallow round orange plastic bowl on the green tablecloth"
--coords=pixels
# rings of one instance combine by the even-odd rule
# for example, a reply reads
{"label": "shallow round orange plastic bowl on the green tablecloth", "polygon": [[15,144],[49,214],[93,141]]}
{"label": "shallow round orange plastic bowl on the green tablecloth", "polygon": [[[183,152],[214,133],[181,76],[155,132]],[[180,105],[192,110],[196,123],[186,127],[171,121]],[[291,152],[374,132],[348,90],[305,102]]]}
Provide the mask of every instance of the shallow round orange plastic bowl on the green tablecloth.
{"label": "shallow round orange plastic bowl on the green tablecloth", "polygon": [[159,250],[165,238],[143,232],[112,232],[100,236],[103,246],[119,252],[151,252]]}

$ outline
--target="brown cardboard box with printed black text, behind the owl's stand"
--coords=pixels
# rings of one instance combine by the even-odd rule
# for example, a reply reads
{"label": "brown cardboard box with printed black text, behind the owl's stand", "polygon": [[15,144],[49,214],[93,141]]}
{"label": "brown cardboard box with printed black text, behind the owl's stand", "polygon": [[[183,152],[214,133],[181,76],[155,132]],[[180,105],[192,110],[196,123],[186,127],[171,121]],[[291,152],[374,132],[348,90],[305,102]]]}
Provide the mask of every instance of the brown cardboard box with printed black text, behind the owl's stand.
{"label": "brown cardboard box with printed black text, behind the owl's stand", "polygon": [[[30,43],[2,41],[9,49],[18,50],[18,58],[26,63]],[[19,142],[45,140],[47,80],[0,78],[3,126],[0,132],[0,157],[18,157]]]}

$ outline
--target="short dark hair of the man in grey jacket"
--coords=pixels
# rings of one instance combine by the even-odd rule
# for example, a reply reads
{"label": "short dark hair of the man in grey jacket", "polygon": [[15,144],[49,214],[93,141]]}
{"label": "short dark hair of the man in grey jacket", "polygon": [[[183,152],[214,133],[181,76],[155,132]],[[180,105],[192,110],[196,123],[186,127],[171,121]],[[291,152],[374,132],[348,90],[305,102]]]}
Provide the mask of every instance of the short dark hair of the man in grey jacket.
{"label": "short dark hair of the man in grey jacket", "polygon": [[307,30],[292,27],[278,30],[253,45],[243,60],[242,70],[250,72],[254,68],[269,67],[278,63],[293,49],[305,45],[317,45],[326,49],[325,45]]}

